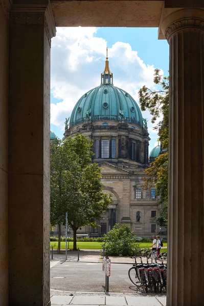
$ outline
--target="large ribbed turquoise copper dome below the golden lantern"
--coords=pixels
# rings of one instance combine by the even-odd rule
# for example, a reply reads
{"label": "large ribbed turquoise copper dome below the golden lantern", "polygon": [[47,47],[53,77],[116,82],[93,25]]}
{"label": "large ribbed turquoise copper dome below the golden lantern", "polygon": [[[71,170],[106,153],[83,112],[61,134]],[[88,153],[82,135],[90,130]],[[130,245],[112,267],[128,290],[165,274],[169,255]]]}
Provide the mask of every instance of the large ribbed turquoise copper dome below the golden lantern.
{"label": "large ribbed turquoise copper dome below the golden lantern", "polygon": [[126,122],[143,127],[141,110],[125,90],[112,84],[100,86],[86,92],[75,105],[70,118],[70,127],[91,121],[120,121],[121,112]]}

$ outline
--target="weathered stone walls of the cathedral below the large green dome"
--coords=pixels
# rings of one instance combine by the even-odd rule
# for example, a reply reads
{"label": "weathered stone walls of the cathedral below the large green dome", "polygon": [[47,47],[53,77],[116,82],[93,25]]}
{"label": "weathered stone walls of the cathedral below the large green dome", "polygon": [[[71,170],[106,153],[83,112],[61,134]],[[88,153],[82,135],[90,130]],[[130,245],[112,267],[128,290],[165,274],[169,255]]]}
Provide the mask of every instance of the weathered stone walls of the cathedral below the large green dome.
{"label": "weathered stone walls of the cathedral below the large green dome", "polygon": [[[143,190],[144,169],[148,167],[147,129],[123,120],[87,120],[66,129],[63,140],[73,137],[76,133],[82,133],[93,140],[93,162],[98,163],[102,169],[104,192],[112,193],[113,197],[108,211],[97,220],[100,226],[96,229],[84,226],[77,234],[103,235],[115,223],[128,224],[137,236],[159,233],[160,227],[154,222],[154,217],[160,214],[155,188],[152,187],[152,192]],[[108,149],[106,158],[103,157],[103,140],[106,141]]]}

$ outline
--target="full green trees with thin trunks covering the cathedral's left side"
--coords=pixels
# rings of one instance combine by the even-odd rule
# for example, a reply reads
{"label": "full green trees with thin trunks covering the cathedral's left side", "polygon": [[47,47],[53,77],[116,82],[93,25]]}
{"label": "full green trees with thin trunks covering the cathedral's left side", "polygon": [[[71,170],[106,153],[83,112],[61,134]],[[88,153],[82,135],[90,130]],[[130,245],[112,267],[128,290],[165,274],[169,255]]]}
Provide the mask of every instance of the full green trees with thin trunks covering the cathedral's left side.
{"label": "full green trees with thin trunks covering the cathedral's left side", "polygon": [[92,142],[77,133],[62,142],[55,140],[51,145],[51,224],[58,224],[60,252],[60,224],[65,223],[73,230],[73,249],[77,249],[76,232],[84,225],[96,226],[110,205],[111,195],[103,193],[98,164],[92,163]]}

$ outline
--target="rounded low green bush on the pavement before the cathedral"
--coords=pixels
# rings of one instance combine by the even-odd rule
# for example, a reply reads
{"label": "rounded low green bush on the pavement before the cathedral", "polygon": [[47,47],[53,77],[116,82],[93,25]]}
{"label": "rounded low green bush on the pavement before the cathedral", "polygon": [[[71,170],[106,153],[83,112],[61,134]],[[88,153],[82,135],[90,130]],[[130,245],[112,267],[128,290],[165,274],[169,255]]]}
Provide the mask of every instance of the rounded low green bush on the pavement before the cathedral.
{"label": "rounded low green bush on the pavement before the cathedral", "polygon": [[125,224],[115,224],[103,238],[106,256],[133,256],[139,250],[136,236]]}

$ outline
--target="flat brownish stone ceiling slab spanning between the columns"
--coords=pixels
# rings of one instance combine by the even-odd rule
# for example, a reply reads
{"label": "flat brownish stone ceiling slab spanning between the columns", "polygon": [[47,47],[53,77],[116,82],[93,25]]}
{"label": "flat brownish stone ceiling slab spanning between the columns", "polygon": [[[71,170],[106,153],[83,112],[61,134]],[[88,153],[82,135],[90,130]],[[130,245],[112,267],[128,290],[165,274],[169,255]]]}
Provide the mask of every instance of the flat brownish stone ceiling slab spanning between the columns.
{"label": "flat brownish stone ceiling slab spanning between the columns", "polygon": [[57,27],[158,27],[164,0],[51,0]]}

